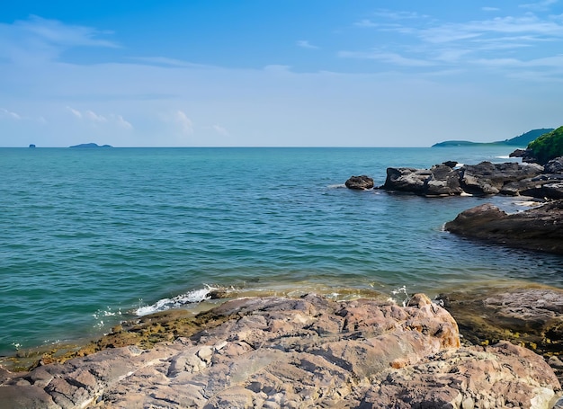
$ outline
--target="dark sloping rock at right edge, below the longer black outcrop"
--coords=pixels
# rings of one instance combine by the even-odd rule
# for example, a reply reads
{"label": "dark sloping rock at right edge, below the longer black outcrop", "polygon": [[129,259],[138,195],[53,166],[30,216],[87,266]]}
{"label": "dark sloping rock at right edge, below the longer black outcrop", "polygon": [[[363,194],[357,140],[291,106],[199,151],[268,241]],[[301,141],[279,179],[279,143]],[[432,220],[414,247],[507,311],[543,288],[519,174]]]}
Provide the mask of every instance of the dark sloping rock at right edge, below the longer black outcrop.
{"label": "dark sloping rock at right edge, below the longer black outcrop", "polygon": [[510,215],[487,203],[461,212],[445,229],[486,242],[563,254],[563,200]]}

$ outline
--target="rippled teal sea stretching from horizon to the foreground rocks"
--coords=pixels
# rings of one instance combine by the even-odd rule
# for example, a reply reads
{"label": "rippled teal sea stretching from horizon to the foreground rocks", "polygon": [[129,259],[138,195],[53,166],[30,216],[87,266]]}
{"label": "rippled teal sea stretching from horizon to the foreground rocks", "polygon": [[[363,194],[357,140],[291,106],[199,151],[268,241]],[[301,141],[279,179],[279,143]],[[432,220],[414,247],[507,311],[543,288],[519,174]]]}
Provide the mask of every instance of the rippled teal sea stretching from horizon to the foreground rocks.
{"label": "rippled teal sea stretching from horizon to the foreground rocks", "polygon": [[[351,191],[388,166],[505,162],[510,147],[1,148],[0,355],[240,295],[394,298],[546,284],[563,258],[442,230],[486,201]],[[196,302],[196,303],[193,303]]]}

